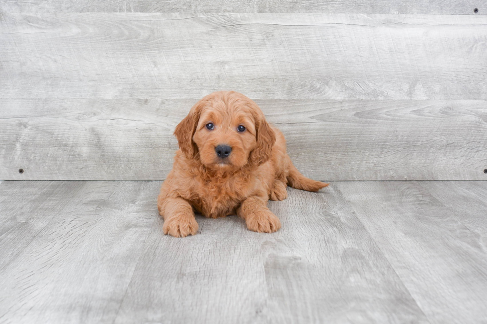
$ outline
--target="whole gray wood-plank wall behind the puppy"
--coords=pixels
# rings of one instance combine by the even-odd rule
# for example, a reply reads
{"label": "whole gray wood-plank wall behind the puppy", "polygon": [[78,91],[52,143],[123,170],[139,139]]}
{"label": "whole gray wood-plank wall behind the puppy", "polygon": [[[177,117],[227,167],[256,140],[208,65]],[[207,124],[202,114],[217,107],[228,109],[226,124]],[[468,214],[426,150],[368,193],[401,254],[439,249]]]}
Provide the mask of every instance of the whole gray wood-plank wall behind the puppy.
{"label": "whole gray wood-plank wall behind the puppy", "polygon": [[486,13],[471,0],[3,0],[0,179],[163,180],[189,108],[236,90],[309,177],[487,180]]}

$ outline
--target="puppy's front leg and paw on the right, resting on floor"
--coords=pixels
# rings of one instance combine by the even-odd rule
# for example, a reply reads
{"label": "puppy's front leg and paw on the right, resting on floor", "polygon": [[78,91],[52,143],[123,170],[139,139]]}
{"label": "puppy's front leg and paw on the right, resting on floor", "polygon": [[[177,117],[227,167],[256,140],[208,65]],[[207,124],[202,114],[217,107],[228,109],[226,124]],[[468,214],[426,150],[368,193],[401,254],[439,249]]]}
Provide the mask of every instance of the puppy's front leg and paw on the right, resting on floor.
{"label": "puppy's front leg and paw on the right, resting on floor", "polygon": [[258,196],[243,200],[237,213],[245,220],[249,230],[272,233],[281,228],[281,221],[266,205],[267,201]]}

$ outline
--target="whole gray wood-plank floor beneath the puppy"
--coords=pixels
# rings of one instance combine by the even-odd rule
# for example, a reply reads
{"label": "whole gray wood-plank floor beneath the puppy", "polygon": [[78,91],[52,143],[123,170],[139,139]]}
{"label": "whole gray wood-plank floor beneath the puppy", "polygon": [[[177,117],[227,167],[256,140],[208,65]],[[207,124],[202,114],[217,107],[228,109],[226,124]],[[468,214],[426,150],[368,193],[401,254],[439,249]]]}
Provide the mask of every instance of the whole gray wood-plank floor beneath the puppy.
{"label": "whole gray wood-plank floor beneath the puppy", "polygon": [[160,182],[0,183],[1,323],[486,323],[487,182],[332,182],[274,234],[197,217]]}

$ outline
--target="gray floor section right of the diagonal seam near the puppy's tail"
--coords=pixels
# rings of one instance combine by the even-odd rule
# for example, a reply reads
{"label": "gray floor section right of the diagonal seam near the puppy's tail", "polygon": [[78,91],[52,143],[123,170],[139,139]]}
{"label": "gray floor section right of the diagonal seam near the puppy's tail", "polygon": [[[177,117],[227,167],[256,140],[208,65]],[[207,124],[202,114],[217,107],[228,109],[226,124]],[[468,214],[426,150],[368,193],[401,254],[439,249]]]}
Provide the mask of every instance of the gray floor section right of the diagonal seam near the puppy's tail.
{"label": "gray floor section right of the diagonal seam near the puppy's tail", "polygon": [[487,321],[487,182],[335,186],[431,323]]}

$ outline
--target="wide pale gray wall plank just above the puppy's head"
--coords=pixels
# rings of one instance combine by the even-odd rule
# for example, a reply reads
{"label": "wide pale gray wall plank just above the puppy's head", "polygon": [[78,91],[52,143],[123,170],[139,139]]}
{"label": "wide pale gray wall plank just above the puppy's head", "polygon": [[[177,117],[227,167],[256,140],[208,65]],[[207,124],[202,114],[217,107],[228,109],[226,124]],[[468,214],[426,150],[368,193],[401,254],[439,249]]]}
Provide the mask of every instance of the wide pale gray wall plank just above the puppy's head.
{"label": "wide pale gray wall plank just above the puppy's head", "polygon": [[3,13],[0,96],[487,99],[487,17]]}

